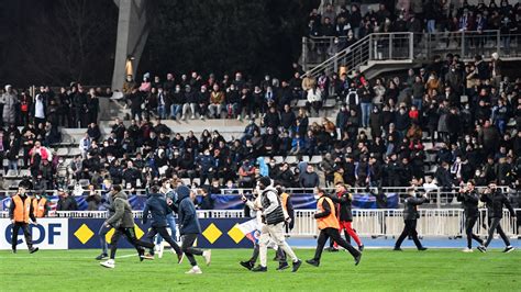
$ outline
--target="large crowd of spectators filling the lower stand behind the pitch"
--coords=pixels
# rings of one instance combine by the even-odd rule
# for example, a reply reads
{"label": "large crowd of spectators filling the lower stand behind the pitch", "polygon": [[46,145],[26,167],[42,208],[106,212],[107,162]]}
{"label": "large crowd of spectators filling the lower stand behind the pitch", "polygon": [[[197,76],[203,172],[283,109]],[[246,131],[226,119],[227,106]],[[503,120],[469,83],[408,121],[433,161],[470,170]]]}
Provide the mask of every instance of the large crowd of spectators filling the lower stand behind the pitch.
{"label": "large crowd of spectators filling the lower stand behind the pitch", "polygon": [[[79,142],[81,155],[68,165],[37,139],[25,148],[26,159],[35,186],[47,189],[80,180],[99,189],[106,179],[142,189],[160,177],[176,177],[191,182],[197,178],[200,186],[219,191],[251,188],[260,176],[304,189],[337,181],[407,187],[412,178],[444,190],[469,179],[478,186],[492,180],[519,186],[521,79],[510,80],[494,54],[491,61],[476,56],[467,64],[458,56],[436,57],[419,70],[387,80],[367,80],[359,72],[300,78],[298,69],[289,81],[280,82],[268,76],[258,82],[243,81],[239,72],[233,81],[204,79],[197,72],[190,79],[182,75],[176,79],[169,74],[165,82],[155,77],[148,91],[145,77],[126,96],[134,117],[130,125],[118,117],[111,133],[101,136],[98,125],[89,124]],[[162,115],[182,119],[182,113],[171,113],[192,105],[197,115],[215,117],[206,115],[210,104],[204,100],[188,102],[191,88],[200,89],[198,97],[222,97],[221,119],[248,115],[243,135],[229,141],[219,131],[181,135],[165,125]],[[159,100],[165,104],[151,106],[157,94],[163,94]],[[233,109],[226,102],[231,96],[245,97],[244,106],[239,105],[243,113],[225,110]],[[308,100],[308,109],[295,106],[310,96],[318,96],[320,102]],[[134,106],[136,99],[142,111]],[[250,106],[254,99],[258,103]],[[312,122],[308,110],[325,113],[321,104],[326,99],[339,101],[336,116]],[[8,136],[16,136],[18,130],[13,131]],[[3,145],[9,151],[10,144]],[[291,155],[295,165],[273,158]],[[320,162],[303,159],[313,156],[321,156]],[[435,171],[425,176],[428,160]]]}

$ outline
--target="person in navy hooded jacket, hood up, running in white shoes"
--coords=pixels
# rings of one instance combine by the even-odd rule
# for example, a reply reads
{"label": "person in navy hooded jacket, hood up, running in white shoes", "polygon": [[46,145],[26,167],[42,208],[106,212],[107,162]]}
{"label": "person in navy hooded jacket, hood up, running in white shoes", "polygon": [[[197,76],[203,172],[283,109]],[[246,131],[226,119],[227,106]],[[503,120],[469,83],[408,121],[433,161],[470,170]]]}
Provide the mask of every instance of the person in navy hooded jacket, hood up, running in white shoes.
{"label": "person in navy hooded jacket, hood up, running in white shoes", "polygon": [[181,249],[191,265],[191,269],[186,273],[202,273],[193,256],[202,256],[208,266],[211,260],[211,250],[202,250],[193,247],[197,236],[201,234],[201,225],[199,224],[196,205],[193,204],[196,193],[186,186],[177,187],[176,193],[177,205],[179,206],[179,233],[182,236]]}

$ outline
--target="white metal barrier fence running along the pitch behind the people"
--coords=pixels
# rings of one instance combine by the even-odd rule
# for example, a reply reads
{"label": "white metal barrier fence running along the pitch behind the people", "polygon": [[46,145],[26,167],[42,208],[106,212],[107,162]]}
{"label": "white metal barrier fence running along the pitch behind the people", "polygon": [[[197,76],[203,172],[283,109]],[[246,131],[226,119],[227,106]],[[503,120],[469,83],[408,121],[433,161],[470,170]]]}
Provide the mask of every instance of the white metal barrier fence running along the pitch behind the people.
{"label": "white metal barrier fence running along the pitch behind the people", "polygon": [[[518,214],[521,209],[514,210]],[[421,209],[418,221],[418,233],[421,236],[458,237],[465,236],[465,215],[462,209]],[[296,210],[295,228],[288,234],[291,237],[313,237],[318,234],[314,210]],[[142,218],[141,211],[134,211],[134,218]],[[197,211],[199,218],[244,218],[242,210]],[[488,234],[488,214],[486,209],[479,210],[474,233],[480,236]],[[0,212],[0,218],[8,218],[8,212]],[[62,218],[107,218],[103,211],[52,212],[49,217]],[[402,210],[353,210],[353,226],[361,236],[398,236],[403,229]],[[519,227],[508,210],[503,210],[501,226],[509,237],[519,236]]]}

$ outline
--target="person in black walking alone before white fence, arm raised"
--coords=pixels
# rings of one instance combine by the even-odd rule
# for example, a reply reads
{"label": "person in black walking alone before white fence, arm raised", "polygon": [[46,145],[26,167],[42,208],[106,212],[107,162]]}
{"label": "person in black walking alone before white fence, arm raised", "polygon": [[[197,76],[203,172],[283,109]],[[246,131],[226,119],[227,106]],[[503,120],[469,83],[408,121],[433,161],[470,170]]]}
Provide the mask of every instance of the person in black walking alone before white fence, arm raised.
{"label": "person in black walking alone before white fence, arm raised", "polygon": [[420,239],[418,238],[417,221],[420,217],[420,214],[418,213],[418,205],[421,205],[426,201],[426,194],[418,196],[414,188],[410,188],[408,194],[409,196],[403,203],[403,221],[406,226],[403,227],[403,232],[401,232],[400,237],[398,237],[398,240],[396,240],[395,250],[402,250],[400,246],[407,236],[412,237],[418,250],[425,250],[426,247],[423,247],[420,243]]}

